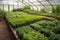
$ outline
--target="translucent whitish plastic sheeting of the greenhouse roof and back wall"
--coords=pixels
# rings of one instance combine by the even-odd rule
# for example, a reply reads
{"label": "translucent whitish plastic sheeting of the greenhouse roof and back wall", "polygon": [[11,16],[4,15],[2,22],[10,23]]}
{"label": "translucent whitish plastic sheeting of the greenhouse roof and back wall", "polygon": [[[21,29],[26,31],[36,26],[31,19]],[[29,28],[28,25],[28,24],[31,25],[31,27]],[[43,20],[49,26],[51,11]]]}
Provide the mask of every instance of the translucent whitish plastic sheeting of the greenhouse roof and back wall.
{"label": "translucent whitish plastic sheeting of the greenhouse roof and back wall", "polygon": [[1,5],[9,5],[10,8],[14,6],[15,9],[29,5],[36,10],[40,10],[42,7],[49,10],[51,6],[60,5],[60,0],[0,0],[0,8],[2,8]]}

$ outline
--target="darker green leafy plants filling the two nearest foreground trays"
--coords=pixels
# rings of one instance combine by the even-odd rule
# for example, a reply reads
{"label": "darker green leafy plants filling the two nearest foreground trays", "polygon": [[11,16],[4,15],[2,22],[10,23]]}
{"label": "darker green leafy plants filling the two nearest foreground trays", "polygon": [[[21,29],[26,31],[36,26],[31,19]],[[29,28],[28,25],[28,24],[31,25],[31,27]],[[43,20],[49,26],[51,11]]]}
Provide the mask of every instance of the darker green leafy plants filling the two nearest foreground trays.
{"label": "darker green leafy plants filling the two nearest foreground trays", "polygon": [[54,18],[42,19],[17,28],[16,32],[21,40],[60,40],[60,21]]}

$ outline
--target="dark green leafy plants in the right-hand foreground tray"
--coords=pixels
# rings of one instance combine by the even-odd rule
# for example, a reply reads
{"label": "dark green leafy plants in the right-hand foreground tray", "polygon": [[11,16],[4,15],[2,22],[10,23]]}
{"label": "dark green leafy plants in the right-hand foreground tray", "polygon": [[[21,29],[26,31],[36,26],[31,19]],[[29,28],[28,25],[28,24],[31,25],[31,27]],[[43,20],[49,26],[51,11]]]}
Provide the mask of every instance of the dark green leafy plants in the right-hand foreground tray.
{"label": "dark green leafy plants in the right-hand foreground tray", "polygon": [[60,21],[41,20],[30,25],[36,31],[44,34],[49,40],[60,40]]}

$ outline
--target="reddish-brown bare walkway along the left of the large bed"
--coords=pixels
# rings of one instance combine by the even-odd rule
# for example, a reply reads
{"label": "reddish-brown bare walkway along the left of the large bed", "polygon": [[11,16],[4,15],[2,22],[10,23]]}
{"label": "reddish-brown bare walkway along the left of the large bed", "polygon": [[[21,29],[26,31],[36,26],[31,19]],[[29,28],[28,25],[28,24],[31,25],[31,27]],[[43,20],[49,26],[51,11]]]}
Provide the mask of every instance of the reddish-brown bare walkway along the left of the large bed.
{"label": "reddish-brown bare walkway along the left of the large bed", "polygon": [[14,40],[14,37],[5,21],[0,21],[0,40]]}

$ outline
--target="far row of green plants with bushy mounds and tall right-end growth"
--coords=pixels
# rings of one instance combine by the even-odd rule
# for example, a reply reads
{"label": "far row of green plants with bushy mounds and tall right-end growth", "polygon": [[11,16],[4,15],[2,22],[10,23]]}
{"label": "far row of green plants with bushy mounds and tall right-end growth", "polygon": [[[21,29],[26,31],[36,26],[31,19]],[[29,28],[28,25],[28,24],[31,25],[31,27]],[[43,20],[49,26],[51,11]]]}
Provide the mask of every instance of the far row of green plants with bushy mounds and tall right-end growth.
{"label": "far row of green plants with bushy mounds and tall right-end growth", "polygon": [[29,6],[24,6],[21,9],[13,9],[13,11],[23,11],[23,12],[28,12],[31,14],[43,14],[43,15],[49,15],[49,16],[58,16],[60,17],[60,6],[52,7],[51,8],[52,12],[48,13],[44,8],[41,8],[40,11],[31,9]]}

